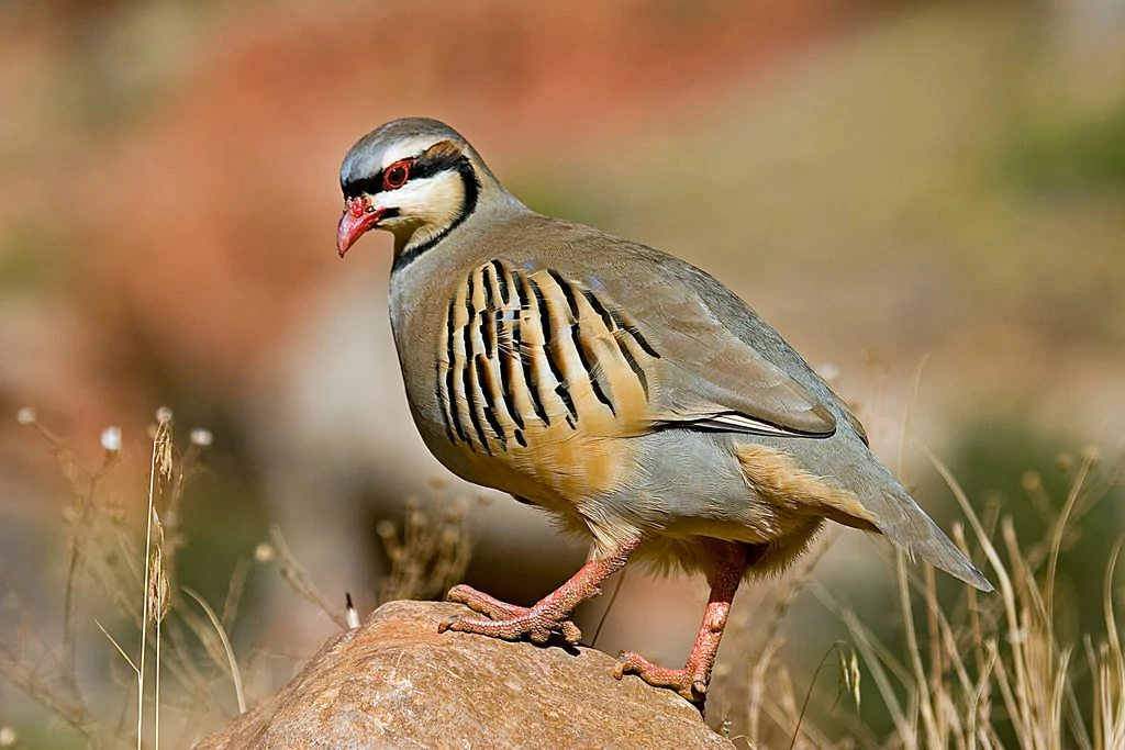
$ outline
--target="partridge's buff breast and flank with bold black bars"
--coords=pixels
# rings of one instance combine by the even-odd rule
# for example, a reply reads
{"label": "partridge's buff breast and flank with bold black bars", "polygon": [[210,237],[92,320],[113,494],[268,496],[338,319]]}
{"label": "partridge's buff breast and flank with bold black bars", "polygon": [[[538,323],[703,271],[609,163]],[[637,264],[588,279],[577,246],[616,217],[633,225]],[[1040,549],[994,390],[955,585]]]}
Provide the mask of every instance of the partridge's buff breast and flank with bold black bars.
{"label": "partridge's buff breast and flank with bold black bars", "polygon": [[434,455],[547,507],[627,481],[647,400],[644,353],[597,305],[557,274],[501,261],[413,309],[393,305],[407,398]]}

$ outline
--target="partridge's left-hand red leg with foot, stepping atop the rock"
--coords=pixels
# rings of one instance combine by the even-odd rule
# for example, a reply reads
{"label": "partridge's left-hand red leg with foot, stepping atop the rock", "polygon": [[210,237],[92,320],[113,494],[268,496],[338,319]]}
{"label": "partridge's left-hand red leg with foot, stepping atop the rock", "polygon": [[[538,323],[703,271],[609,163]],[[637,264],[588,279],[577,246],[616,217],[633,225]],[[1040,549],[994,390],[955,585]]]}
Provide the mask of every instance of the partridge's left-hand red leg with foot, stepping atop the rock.
{"label": "partridge's left-hand red leg with foot, stepping atop the rock", "polygon": [[570,621],[570,613],[586,599],[597,596],[602,581],[624,568],[629,555],[639,545],[640,537],[637,536],[622,543],[609,555],[592,559],[570,580],[530,607],[506,604],[468,586],[454,586],[447,599],[459,602],[489,620],[453,617],[442,622],[438,630],[442,633],[447,630],[477,633],[508,641],[526,635],[536,643],[546,643],[552,633],[559,633],[567,643],[577,643],[582,639],[582,631]]}

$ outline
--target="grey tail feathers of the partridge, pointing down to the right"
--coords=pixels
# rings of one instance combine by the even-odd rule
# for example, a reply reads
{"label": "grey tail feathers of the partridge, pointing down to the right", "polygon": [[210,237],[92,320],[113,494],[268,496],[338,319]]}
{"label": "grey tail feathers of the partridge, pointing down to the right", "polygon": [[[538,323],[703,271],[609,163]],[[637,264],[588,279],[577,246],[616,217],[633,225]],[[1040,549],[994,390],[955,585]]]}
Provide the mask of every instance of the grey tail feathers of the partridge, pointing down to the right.
{"label": "grey tail feathers of the partridge, pointing down to the right", "polygon": [[870,489],[858,494],[864,508],[875,516],[875,527],[911,558],[921,558],[982,591],[996,590],[890,472],[882,466],[878,470],[885,475],[882,481],[871,482],[874,487],[868,484]]}

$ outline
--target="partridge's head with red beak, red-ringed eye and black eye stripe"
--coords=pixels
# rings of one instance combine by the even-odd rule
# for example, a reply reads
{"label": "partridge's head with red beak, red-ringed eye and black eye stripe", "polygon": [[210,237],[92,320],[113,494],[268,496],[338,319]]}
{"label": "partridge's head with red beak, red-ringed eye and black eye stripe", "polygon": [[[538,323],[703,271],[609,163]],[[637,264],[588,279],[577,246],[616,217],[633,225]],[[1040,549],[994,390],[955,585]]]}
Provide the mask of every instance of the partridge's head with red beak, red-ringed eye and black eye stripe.
{"label": "partridge's head with red beak, red-ringed eye and black eye stripe", "polygon": [[387,123],[352,146],[340,168],[344,211],[336,250],[343,257],[376,227],[395,235],[399,252],[432,246],[494,183],[472,146],[449,126],[422,118]]}

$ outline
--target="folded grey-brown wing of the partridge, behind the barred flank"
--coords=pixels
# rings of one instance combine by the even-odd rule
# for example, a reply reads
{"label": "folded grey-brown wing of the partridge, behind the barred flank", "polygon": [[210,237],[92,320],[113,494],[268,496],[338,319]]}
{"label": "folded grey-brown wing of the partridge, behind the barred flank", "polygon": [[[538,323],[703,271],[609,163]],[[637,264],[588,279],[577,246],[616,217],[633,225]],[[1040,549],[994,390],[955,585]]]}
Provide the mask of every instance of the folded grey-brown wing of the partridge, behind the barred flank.
{"label": "folded grey-brown wing of the partridge, behind the barred flank", "polygon": [[[776,332],[711,277],[601,233],[575,240],[536,264],[580,284],[614,325],[636,334],[656,428],[827,437],[835,414],[849,415]],[[794,367],[812,388],[790,373]]]}

